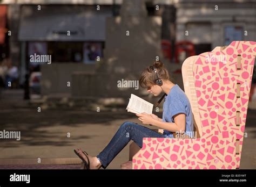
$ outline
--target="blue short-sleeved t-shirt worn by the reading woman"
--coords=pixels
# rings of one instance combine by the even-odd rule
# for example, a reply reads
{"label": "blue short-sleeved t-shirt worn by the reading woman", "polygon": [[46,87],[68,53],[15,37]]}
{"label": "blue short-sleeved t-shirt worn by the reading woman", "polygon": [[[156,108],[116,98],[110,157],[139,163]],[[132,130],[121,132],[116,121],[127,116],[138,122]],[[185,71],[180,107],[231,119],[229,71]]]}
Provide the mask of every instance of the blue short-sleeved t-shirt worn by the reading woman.
{"label": "blue short-sleeved t-shirt worn by the reading woman", "polygon": [[[185,133],[193,138],[193,115],[185,92],[181,90],[178,84],[175,84],[169,94],[165,96],[165,102],[163,106],[163,121],[174,123],[173,116],[178,113],[186,114],[186,130]],[[173,134],[164,130],[164,136],[166,138],[174,138]]]}

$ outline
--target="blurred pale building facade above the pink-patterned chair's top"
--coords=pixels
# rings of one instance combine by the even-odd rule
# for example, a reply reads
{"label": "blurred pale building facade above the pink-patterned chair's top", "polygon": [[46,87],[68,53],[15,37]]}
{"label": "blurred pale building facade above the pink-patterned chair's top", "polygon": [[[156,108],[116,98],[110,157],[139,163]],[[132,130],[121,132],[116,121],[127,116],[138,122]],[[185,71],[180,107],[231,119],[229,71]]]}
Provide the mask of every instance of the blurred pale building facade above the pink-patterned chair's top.
{"label": "blurred pale building facade above the pink-patterned chair's top", "polygon": [[256,1],[178,2],[176,40],[191,41],[196,54],[235,40],[256,39]]}

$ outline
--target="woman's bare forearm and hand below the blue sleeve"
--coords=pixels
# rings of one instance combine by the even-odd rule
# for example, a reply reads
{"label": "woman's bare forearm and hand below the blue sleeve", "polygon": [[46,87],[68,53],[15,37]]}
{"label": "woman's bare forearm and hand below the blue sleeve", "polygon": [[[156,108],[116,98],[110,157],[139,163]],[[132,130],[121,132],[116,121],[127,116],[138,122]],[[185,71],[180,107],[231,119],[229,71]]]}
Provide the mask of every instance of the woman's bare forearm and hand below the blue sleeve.
{"label": "woman's bare forearm and hand below the blue sleeve", "polygon": [[136,116],[139,117],[139,120],[142,121],[143,124],[151,124],[159,128],[163,128],[164,130],[167,131],[184,132],[186,129],[186,116],[184,113],[178,113],[175,116],[173,116],[174,123],[154,119],[150,114],[147,113],[136,114]]}

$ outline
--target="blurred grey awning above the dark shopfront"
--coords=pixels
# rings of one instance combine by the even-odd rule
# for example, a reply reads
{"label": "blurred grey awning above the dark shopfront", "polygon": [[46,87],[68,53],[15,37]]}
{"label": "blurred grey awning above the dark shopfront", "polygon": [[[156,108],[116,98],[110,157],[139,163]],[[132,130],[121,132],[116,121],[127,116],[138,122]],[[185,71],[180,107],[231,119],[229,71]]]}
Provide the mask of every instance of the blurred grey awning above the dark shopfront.
{"label": "blurred grey awning above the dark shopfront", "polygon": [[22,6],[21,41],[104,41],[111,9],[96,12],[86,6]]}

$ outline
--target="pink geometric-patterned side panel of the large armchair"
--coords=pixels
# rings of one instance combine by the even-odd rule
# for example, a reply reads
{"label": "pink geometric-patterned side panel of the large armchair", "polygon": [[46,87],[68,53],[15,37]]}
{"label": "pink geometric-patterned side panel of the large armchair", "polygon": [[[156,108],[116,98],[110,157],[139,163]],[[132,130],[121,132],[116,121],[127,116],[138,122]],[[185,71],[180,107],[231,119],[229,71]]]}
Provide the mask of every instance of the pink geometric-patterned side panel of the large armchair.
{"label": "pink geometric-patterned side panel of the large armchair", "polygon": [[[133,169],[235,169],[240,166],[256,42],[233,41],[205,53],[193,64],[202,136],[197,139],[144,138]],[[241,67],[238,66],[241,55]],[[220,56],[226,57],[226,63]],[[184,75],[183,75],[184,76]],[[237,97],[240,83],[240,98]],[[236,114],[240,112],[240,125]],[[237,146],[237,143],[239,146]],[[236,148],[238,151],[236,151]],[[237,153],[236,153],[237,152]]]}

